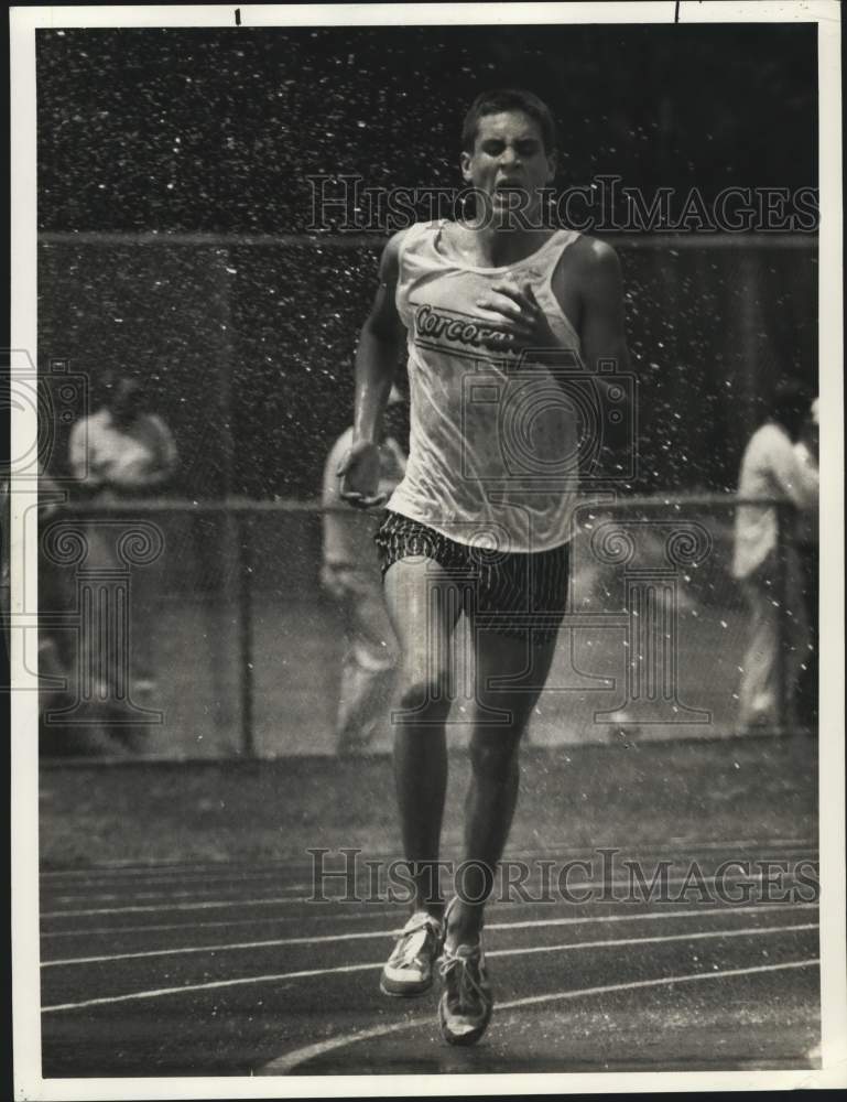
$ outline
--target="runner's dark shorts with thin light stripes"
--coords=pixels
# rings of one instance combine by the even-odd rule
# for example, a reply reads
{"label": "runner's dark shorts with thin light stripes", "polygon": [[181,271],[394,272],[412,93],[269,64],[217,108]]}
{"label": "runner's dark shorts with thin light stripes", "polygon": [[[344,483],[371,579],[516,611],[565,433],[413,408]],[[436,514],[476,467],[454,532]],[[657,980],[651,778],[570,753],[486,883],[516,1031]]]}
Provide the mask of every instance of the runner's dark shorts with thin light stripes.
{"label": "runner's dark shorts with thin light stripes", "polygon": [[463,612],[476,627],[535,646],[552,642],[567,602],[571,547],[534,553],[486,551],[386,510],[376,536],[386,571],[400,559],[424,557],[443,566],[461,590]]}

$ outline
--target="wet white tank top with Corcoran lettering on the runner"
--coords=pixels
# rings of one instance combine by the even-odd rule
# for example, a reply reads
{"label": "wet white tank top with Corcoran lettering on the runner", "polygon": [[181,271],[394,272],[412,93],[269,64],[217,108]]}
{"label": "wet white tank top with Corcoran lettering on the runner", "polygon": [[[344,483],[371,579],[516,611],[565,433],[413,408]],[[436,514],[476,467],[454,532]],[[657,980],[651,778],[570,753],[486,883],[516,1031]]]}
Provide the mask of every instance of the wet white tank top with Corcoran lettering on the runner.
{"label": "wet white tank top with Corcoran lettering on the runner", "polygon": [[571,538],[578,488],[573,388],[568,397],[542,363],[487,346],[497,339],[498,315],[476,302],[509,272],[529,281],[567,349],[557,364],[579,369],[579,337],[551,287],[562,252],[579,235],[557,230],[517,263],[475,268],[442,251],[445,225],[412,226],[400,248],[411,436],[405,477],[388,508],[458,543],[546,551]]}

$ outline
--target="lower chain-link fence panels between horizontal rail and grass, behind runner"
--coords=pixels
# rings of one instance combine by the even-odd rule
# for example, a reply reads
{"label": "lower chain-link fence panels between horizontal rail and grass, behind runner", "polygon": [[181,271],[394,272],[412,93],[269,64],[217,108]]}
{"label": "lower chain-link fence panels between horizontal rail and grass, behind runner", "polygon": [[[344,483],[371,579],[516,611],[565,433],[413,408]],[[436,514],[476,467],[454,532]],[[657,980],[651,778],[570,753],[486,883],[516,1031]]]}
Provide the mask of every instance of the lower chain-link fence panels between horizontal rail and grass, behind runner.
{"label": "lower chain-link fence panels between horizontal rail and grass, behind runner", "polygon": [[[568,612],[531,744],[739,733],[750,630],[731,573],[739,504],[712,495],[580,505]],[[784,564],[793,509],[756,504],[778,511]],[[43,756],[333,754],[344,615],[321,582],[321,521],[308,503],[51,511],[40,532],[40,628],[22,629],[33,670],[37,652]],[[782,695],[767,734],[796,722],[784,672],[794,644],[784,569],[773,601]],[[454,661],[448,739],[461,746],[474,701],[464,622]],[[389,688],[377,753],[390,749],[390,710]]]}

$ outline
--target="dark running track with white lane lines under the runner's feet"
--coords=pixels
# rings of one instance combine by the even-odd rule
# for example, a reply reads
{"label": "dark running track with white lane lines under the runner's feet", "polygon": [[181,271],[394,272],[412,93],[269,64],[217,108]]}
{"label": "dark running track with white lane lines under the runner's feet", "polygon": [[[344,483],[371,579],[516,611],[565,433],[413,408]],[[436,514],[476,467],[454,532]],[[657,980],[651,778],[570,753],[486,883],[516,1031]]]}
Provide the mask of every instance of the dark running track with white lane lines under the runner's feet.
{"label": "dark running track with white lane lines under the runner's feet", "polygon": [[[648,876],[658,861],[674,862],[670,899],[576,904],[553,892],[554,901],[533,903],[535,858],[558,862],[555,885],[565,861],[597,855],[524,855],[530,901],[488,909],[497,1004],[470,1049],[441,1041],[437,988],[416,1000],[379,992],[403,907],[379,898],[310,901],[308,865],[45,872],[43,1076],[819,1067],[812,843],[704,842],[684,855],[619,860],[636,856]],[[702,888],[675,898],[688,862],[714,888],[712,875],[730,857],[788,863],[784,885],[797,890],[768,901],[753,879],[751,898],[734,893],[738,903],[714,890],[704,898]],[[620,896],[626,880],[615,877],[611,894]],[[582,874],[571,880],[575,889],[585,883]],[[361,888],[367,894],[365,882]]]}

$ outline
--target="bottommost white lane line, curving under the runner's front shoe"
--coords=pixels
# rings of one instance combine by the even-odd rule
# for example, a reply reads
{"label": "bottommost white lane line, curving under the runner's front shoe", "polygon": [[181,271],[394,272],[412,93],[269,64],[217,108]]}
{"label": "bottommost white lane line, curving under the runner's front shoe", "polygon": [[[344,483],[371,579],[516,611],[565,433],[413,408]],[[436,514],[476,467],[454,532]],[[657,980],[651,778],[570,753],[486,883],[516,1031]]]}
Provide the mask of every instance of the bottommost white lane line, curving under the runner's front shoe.
{"label": "bottommost white lane line, curving under the runner's front shoe", "polygon": [[[575,991],[556,991],[549,995],[530,995],[526,998],[514,998],[508,1003],[498,1003],[497,1012],[517,1011],[525,1006],[537,1006],[542,1003],[554,1003],[562,1000],[587,998],[591,995],[609,995],[621,991],[636,991],[641,987],[671,986],[676,983],[695,983],[698,980],[725,980],[738,975],[753,975],[759,972],[780,972],[788,969],[812,968],[819,964],[817,958],[802,961],[785,961],[782,964],[758,964],[754,968],[727,969],[724,972],[697,972],[693,975],[670,975],[659,980],[637,980],[632,983],[610,983],[602,987],[583,987]],[[360,1029],[356,1033],[344,1034],[340,1037],[330,1037],[328,1040],[318,1041],[316,1045],[307,1045],[305,1048],[296,1048],[292,1052],[285,1052],[276,1057],[270,1063],[260,1068],[259,1076],[286,1076],[301,1063],[314,1060],[316,1057],[325,1056],[334,1049],[347,1048],[362,1040],[371,1040],[376,1037],[384,1037],[387,1034],[404,1033],[408,1029],[417,1029],[424,1026],[432,1027],[432,1017],[414,1018],[412,1022],[392,1022],[390,1025],[374,1026],[371,1029]]]}

